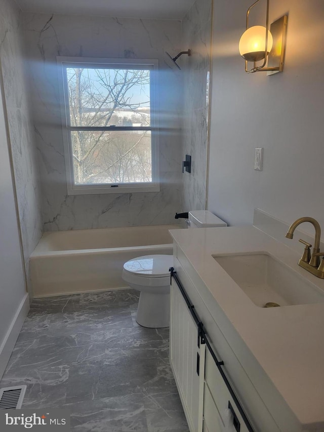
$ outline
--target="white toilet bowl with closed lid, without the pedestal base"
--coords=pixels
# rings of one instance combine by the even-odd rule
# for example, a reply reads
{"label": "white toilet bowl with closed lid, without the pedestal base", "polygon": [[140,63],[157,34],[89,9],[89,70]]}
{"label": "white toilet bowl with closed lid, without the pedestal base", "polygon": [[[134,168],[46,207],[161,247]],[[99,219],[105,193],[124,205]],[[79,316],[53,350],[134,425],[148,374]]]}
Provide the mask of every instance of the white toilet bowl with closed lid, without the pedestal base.
{"label": "white toilet bowl with closed lid, without the pedestal base", "polygon": [[122,277],[128,283],[146,287],[170,285],[172,265],[173,255],[144,255],[127,261]]}

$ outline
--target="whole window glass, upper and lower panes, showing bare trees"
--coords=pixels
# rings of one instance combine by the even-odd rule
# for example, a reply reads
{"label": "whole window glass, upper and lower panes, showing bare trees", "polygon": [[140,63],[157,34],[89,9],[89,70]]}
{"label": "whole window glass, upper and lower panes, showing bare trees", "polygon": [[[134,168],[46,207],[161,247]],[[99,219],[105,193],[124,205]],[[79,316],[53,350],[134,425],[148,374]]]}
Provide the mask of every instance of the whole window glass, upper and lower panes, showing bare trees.
{"label": "whole window glass, upper and lower panes, showing bare trees", "polygon": [[150,70],[67,67],[76,185],[152,181]]}

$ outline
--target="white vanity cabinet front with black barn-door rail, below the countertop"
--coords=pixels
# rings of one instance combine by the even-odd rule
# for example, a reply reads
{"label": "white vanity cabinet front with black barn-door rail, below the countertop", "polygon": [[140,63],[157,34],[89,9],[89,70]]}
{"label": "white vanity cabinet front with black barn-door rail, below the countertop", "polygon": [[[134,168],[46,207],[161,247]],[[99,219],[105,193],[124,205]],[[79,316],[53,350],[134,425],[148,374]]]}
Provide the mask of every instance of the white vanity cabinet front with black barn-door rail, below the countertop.
{"label": "white vanity cabinet front with black barn-door rail, below the countertop", "polygon": [[[190,263],[180,248],[175,247],[175,252],[170,362],[190,432],[279,432],[218,327],[217,317],[211,316],[199,295],[199,287],[188,277],[186,268]],[[203,332],[198,346],[199,322],[203,324]]]}

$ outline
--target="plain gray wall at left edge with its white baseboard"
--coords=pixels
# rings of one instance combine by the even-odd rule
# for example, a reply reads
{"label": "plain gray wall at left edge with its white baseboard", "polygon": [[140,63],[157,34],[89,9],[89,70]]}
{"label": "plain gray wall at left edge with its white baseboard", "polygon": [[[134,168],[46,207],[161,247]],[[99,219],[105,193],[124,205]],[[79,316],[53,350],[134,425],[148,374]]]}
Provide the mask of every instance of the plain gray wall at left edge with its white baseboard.
{"label": "plain gray wall at left edge with its white baseboard", "polygon": [[29,309],[0,77],[0,379]]}

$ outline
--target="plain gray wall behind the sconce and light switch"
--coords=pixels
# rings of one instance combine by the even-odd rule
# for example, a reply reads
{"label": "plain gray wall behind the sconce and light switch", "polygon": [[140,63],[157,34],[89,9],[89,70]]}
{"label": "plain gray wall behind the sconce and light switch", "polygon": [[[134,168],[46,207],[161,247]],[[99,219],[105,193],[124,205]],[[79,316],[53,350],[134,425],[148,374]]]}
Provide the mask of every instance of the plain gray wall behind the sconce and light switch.
{"label": "plain gray wall behind the sconce and light switch", "polygon": [[[324,3],[270,2],[270,22],[289,15],[284,71],[272,76],[246,74],[238,54],[250,3],[215,2],[208,208],[231,225],[251,224],[259,207],[324,227]],[[264,147],[262,172],[255,147]]]}

